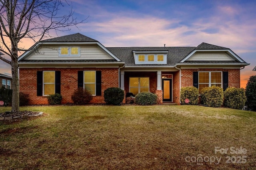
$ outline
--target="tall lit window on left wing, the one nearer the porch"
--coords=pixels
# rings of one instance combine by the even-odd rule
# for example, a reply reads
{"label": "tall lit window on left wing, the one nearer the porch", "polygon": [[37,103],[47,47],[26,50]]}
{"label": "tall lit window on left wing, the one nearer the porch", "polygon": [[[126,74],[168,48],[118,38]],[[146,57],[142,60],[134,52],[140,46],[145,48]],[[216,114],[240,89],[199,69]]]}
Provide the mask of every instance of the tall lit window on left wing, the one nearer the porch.
{"label": "tall lit window on left wing, the one nearer the porch", "polygon": [[84,71],[84,88],[96,95],[96,71]]}

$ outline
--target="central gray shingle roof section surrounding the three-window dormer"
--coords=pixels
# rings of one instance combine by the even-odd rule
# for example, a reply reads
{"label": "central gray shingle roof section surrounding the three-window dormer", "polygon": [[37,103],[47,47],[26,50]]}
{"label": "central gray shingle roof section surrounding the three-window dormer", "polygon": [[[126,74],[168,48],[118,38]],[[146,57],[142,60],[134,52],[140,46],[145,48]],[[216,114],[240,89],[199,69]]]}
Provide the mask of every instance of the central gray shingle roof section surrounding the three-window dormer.
{"label": "central gray shingle roof section surrounding the three-window dormer", "polygon": [[[107,47],[125,66],[174,66],[196,47]],[[167,64],[135,64],[132,51],[168,51]]]}

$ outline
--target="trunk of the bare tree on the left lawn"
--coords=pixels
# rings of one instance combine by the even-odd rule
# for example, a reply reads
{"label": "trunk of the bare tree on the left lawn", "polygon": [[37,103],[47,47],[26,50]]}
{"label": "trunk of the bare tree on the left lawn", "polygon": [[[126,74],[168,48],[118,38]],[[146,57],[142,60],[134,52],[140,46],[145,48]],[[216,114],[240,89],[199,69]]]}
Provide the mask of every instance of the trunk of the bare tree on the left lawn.
{"label": "trunk of the bare tree on the left lawn", "polygon": [[18,72],[18,51],[12,51],[12,112],[20,111],[19,101],[19,72]]}

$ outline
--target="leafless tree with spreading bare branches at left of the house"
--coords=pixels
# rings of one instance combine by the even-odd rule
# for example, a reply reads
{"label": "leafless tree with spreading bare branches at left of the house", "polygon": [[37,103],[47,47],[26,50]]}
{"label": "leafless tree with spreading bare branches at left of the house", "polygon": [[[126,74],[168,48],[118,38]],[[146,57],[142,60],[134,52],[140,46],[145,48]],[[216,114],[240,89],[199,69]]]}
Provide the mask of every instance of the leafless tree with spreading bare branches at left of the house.
{"label": "leafless tree with spreading bare branches at left of the house", "polygon": [[[64,5],[70,12],[60,15]],[[19,111],[18,52],[28,51],[20,43],[25,39],[36,43],[51,37],[50,30],[67,31],[86,20],[77,21],[73,14],[63,0],[0,0],[0,51],[11,61],[0,59],[12,66],[12,112]]]}

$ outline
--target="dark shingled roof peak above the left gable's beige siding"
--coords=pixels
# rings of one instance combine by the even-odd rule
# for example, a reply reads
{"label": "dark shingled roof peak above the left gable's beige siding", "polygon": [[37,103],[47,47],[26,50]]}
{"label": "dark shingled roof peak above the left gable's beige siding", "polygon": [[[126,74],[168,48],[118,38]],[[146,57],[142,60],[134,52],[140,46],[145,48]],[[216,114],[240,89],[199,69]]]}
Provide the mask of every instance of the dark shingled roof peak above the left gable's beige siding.
{"label": "dark shingled roof peak above the left gable's beige siding", "polygon": [[61,37],[56,37],[56,38],[51,38],[51,39],[45,39],[41,41],[42,43],[48,43],[48,42],[69,42],[69,43],[74,43],[74,42],[98,42],[95,39],[92,39],[90,37],[87,37],[85,35],[82,35],[80,33],[75,33],[75,34],[70,34],[70,35],[64,35]]}

